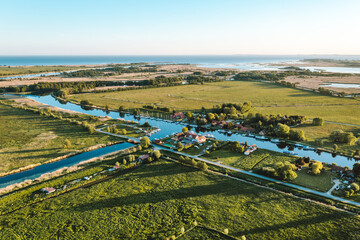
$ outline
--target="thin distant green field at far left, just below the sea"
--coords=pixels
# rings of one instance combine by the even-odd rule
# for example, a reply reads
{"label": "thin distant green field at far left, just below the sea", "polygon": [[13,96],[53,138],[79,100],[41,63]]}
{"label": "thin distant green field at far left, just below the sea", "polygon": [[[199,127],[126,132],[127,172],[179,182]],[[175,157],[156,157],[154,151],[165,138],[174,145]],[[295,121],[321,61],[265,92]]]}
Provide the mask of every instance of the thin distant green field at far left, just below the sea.
{"label": "thin distant green field at far left, just below the sea", "polygon": [[19,74],[34,74],[46,72],[61,72],[76,69],[83,69],[84,67],[77,66],[16,66],[16,67],[0,67],[0,77],[6,77]]}

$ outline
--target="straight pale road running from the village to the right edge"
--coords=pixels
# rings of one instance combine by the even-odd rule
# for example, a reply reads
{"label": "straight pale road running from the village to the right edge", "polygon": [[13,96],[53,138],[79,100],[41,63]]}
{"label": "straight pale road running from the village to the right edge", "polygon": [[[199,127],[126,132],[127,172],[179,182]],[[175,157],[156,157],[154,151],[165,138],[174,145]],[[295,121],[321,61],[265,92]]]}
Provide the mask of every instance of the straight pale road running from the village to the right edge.
{"label": "straight pale road running from the village to the right edge", "polygon": [[301,191],[304,191],[304,192],[312,193],[312,194],[315,194],[315,195],[318,195],[318,196],[321,196],[321,197],[326,197],[326,198],[329,198],[329,199],[332,199],[332,200],[336,200],[336,201],[340,201],[340,202],[343,202],[343,203],[351,204],[351,205],[354,205],[354,206],[357,206],[357,207],[360,206],[360,203],[358,203],[358,202],[354,202],[354,201],[351,201],[351,200],[348,200],[348,199],[333,196],[329,192],[326,192],[326,193],[319,192],[319,191],[316,191],[316,190],[312,190],[310,188],[306,188],[306,187],[298,186],[298,185],[295,185],[295,184],[291,184],[291,183],[283,182],[283,181],[280,181],[280,180],[276,180],[276,179],[273,179],[273,178],[265,177],[265,176],[260,175],[260,174],[256,174],[256,173],[248,172],[248,171],[241,170],[241,169],[238,169],[238,168],[230,167],[230,166],[227,166],[227,165],[224,165],[224,164],[221,164],[221,163],[213,162],[213,161],[210,161],[210,160],[207,160],[207,159],[204,159],[204,158],[195,157],[195,156],[190,155],[190,154],[178,152],[178,151],[175,151],[173,149],[168,149],[168,148],[161,147],[161,146],[158,146],[158,145],[155,146],[155,149],[170,151],[170,152],[173,152],[173,153],[176,153],[176,154],[180,154],[182,156],[194,158],[195,160],[198,160],[198,161],[206,162],[206,163],[211,164],[211,165],[226,168],[226,169],[229,169],[229,170],[232,170],[232,171],[235,171],[235,172],[239,172],[239,173],[242,173],[242,174],[246,174],[246,175],[249,175],[249,176],[257,177],[257,178],[260,178],[260,179],[263,179],[263,180],[266,180],[266,181],[269,181],[269,182],[273,182],[273,183],[277,183],[277,184],[284,185],[284,186],[287,186],[287,187],[295,188],[295,189],[298,189],[298,190],[301,190]]}

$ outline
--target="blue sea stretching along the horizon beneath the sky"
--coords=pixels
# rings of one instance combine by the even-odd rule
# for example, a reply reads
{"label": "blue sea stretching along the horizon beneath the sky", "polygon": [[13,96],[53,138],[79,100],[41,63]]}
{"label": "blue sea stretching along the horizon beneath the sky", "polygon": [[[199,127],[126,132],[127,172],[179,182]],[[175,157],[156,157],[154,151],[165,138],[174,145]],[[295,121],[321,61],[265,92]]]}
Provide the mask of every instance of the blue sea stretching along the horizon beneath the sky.
{"label": "blue sea stretching along the horizon beneath the sky", "polygon": [[[196,64],[209,68],[276,70],[270,63],[296,62],[309,58],[360,60],[360,55],[147,55],[147,56],[0,56],[0,66],[85,65],[110,63]],[[305,67],[304,67],[305,68]],[[308,67],[330,72],[360,73],[360,68]]]}

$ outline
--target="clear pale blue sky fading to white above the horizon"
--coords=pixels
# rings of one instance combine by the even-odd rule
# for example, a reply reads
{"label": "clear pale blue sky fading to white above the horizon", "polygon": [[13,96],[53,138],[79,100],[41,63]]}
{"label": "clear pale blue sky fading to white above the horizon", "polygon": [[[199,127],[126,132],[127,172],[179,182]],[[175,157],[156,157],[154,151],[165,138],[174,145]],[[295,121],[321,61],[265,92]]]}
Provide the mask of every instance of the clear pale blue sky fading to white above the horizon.
{"label": "clear pale blue sky fading to white above the horizon", "polygon": [[360,54],[360,0],[2,0],[0,55]]}

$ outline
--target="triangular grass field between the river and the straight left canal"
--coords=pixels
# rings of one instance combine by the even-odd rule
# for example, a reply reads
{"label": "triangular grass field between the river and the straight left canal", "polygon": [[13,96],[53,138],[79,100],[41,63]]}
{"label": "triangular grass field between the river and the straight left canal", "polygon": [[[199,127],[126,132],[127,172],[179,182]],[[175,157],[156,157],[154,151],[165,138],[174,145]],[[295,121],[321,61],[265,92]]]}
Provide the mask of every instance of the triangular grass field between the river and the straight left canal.
{"label": "triangular grass field between the river and the straight left canal", "polygon": [[[119,141],[105,134],[90,135],[82,126],[2,104],[0,116],[0,173],[100,143]],[[71,142],[71,148],[63,148],[65,139]]]}

